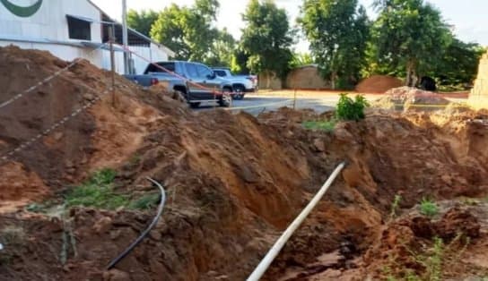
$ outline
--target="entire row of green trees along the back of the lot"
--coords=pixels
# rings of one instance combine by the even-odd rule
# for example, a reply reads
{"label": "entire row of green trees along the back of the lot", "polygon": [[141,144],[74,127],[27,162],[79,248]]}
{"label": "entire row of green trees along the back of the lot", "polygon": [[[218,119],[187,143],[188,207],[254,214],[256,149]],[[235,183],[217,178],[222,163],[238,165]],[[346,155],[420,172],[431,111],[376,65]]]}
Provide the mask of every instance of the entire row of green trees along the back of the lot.
{"label": "entire row of green trees along the back of the lot", "polygon": [[[302,0],[298,18],[291,19],[273,1],[250,0],[241,38],[216,28],[218,0],[129,11],[127,22],[176,51],[179,60],[282,79],[294,67],[318,64],[332,89],[353,89],[374,74],[408,86],[429,76],[442,90],[466,89],[475,79],[484,47],[457,38],[437,7],[425,0],[375,0],[373,7],[374,21],[358,0]],[[309,41],[309,53],[292,50],[298,33]]]}

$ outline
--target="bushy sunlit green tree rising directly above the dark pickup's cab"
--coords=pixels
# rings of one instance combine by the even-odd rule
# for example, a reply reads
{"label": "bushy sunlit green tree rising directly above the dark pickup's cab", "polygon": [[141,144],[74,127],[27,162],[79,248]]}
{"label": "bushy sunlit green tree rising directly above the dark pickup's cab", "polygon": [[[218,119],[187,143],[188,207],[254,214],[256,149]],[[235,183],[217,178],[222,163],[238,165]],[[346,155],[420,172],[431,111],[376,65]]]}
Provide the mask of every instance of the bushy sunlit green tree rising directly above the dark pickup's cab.
{"label": "bushy sunlit green tree rising directly above the dark pickup's cab", "polygon": [[171,4],[159,13],[151,37],[170,47],[177,59],[205,61],[218,32],[212,27],[217,0],[196,0],[191,7]]}

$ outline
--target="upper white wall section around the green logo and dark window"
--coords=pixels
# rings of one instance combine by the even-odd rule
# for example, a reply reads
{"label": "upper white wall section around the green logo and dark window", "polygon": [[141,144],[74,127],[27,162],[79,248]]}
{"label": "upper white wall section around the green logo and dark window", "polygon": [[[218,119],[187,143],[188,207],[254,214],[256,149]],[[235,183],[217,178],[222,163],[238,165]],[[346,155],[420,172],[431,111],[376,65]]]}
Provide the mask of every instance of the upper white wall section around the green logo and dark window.
{"label": "upper white wall section around the green logo and dark window", "polygon": [[[14,4],[27,6],[36,0],[10,0]],[[68,35],[66,14],[100,20],[100,11],[86,0],[44,0],[39,11],[28,18],[10,13],[0,4],[0,37],[43,38],[57,41],[74,41]],[[100,23],[92,23],[92,42],[101,42]]]}

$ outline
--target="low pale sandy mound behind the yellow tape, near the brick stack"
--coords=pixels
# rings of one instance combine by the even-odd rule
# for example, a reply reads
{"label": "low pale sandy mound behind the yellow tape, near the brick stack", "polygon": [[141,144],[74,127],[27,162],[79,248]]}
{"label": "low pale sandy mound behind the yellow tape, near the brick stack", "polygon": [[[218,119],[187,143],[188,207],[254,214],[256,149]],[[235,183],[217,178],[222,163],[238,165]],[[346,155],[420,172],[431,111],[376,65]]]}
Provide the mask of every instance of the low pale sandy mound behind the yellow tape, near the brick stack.
{"label": "low pale sandy mound behind the yellow tape, near the brick stack", "polygon": [[410,87],[389,89],[385,97],[379,98],[373,106],[410,111],[433,111],[446,108],[449,100],[439,94]]}

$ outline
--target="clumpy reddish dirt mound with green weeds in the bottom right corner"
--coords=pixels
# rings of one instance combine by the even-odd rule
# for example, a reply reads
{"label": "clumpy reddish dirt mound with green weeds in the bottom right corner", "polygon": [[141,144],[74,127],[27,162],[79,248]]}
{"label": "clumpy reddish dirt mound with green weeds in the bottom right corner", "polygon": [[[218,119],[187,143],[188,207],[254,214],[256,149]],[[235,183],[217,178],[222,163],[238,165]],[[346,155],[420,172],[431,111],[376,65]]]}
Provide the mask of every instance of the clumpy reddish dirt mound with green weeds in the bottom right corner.
{"label": "clumpy reddish dirt mound with green weeds in the bottom right corner", "polygon": [[389,223],[364,256],[364,276],[465,280],[484,274],[486,267],[471,255],[486,248],[486,206],[473,202],[441,202],[436,217],[421,216],[414,209]]}

